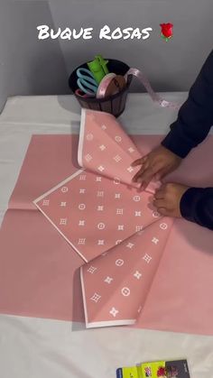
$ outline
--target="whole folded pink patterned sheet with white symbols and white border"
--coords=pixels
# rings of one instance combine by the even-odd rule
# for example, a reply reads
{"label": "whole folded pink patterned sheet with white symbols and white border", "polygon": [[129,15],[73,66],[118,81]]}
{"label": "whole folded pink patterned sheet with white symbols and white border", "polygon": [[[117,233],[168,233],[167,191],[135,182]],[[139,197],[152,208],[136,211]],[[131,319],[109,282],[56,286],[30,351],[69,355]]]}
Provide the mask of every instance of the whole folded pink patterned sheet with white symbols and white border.
{"label": "whole folded pink patterned sheet with white symbols and white border", "polygon": [[159,182],[144,191],[133,184],[141,156],[113,115],[83,109],[83,169],[33,201],[86,262],[87,327],[135,323],[171,230],[152,204]]}

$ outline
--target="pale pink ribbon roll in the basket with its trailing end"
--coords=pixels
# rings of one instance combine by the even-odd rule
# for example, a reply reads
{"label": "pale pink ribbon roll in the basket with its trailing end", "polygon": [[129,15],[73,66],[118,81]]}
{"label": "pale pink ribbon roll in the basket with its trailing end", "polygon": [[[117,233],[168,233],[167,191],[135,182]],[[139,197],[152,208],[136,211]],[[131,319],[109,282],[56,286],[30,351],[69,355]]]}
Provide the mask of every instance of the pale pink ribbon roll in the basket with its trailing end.
{"label": "pale pink ribbon roll in the basket with its trailing end", "polygon": [[[172,109],[179,110],[181,105],[167,101],[161,96],[159,96],[157,93],[154,92],[153,88],[151,87],[151,84],[144,75],[142,71],[139,69],[128,69],[128,71],[125,73],[125,83],[127,82],[128,76],[133,75],[135,78],[138,78],[141,83],[144,85],[144,88],[147,90],[147,93],[150,95],[150,97],[153,99],[155,103],[158,103],[159,106],[162,107],[170,107]],[[108,74],[106,75],[106,79],[103,78],[103,80],[100,82],[98,88],[97,88],[97,98],[104,98],[106,97],[108,87],[110,85],[111,80],[116,78],[116,74]]]}

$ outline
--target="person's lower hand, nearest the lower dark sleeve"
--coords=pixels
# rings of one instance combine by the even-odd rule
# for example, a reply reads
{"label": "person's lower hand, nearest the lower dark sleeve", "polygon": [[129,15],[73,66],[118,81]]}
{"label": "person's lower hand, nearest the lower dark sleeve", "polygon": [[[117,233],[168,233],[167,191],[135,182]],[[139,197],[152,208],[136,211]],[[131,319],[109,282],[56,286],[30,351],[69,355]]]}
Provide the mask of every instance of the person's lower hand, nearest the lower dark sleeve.
{"label": "person's lower hand, nearest the lower dark sleeve", "polygon": [[181,217],[181,198],[189,187],[181,184],[162,184],[154,194],[153,205],[165,217]]}

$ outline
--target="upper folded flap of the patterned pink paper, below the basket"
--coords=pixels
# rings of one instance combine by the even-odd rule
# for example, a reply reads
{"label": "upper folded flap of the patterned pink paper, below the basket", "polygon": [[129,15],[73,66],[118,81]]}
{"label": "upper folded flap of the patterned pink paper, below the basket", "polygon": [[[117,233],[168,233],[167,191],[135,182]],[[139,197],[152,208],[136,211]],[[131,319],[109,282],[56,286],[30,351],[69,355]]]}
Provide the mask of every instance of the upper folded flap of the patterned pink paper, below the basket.
{"label": "upper folded flap of the patterned pink paper, below the basket", "polygon": [[[132,180],[138,167],[132,167],[131,163],[143,154],[114,115],[82,109],[78,150],[81,167],[139,188],[140,184]],[[153,193],[159,185],[159,181],[152,181],[146,191]]]}

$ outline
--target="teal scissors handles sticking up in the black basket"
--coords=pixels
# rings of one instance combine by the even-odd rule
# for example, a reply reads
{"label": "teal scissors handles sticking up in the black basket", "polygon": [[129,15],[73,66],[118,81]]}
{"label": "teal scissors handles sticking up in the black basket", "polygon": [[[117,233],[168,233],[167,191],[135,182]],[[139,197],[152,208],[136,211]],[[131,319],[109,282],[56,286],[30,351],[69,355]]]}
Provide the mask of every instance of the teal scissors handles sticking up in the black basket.
{"label": "teal scissors handles sticking up in the black basket", "polygon": [[89,69],[80,68],[77,69],[76,74],[78,76],[77,84],[87,95],[95,95],[97,93],[97,81]]}

